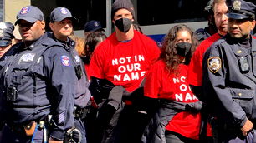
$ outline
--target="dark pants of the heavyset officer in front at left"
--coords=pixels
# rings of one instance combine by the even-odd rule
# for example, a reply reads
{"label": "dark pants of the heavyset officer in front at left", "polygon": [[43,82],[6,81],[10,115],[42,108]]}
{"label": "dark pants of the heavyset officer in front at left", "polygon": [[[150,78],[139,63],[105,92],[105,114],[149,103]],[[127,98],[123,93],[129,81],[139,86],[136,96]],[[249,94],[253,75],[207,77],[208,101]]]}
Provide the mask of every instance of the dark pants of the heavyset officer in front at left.
{"label": "dark pants of the heavyset officer in front at left", "polygon": [[[38,130],[34,136],[34,143],[43,143],[44,131]],[[32,136],[26,136],[24,131],[12,131],[8,126],[3,126],[0,143],[31,143]]]}

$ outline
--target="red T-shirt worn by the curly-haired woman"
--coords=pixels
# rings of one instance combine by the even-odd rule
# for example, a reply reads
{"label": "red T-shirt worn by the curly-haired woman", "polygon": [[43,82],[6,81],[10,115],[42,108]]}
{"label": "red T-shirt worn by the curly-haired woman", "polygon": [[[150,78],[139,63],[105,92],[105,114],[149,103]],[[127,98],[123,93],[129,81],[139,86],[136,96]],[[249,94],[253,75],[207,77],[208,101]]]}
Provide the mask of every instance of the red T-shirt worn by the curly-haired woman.
{"label": "red T-shirt worn by the curly-haired woman", "polygon": [[[146,76],[144,86],[145,96],[162,98],[171,101],[195,102],[197,97],[193,95],[186,81],[187,66],[181,64],[179,74],[169,74],[166,64],[162,60],[156,62]],[[187,138],[199,139],[201,126],[201,114],[182,111],[173,116],[166,126],[166,130],[174,131]]]}

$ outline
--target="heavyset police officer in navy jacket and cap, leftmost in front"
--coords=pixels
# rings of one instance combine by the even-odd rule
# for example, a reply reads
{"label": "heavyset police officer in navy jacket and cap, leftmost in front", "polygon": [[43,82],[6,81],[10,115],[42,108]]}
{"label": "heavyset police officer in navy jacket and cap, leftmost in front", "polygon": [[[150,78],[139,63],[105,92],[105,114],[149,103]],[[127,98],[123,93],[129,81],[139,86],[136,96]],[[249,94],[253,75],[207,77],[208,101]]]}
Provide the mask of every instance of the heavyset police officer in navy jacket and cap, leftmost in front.
{"label": "heavyset police officer in navy jacket and cap, leftmost in front", "polygon": [[63,142],[74,126],[72,57],[44,33],[38,7],[23,7],[15,24],[23,42],[11,47],[8,60],[0,62],[0,121],[16,138],[5,138],[3,131],[2,142]]}

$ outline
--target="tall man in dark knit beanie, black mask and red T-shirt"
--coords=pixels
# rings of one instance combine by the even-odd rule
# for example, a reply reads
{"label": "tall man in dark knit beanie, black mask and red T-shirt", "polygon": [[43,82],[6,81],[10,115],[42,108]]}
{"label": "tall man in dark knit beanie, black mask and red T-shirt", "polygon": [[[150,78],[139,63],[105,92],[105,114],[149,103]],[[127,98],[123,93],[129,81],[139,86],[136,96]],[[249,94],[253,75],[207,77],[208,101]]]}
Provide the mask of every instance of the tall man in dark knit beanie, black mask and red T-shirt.
{"label": "tall man in dark knit beanie, black mask and red T-shirt", "polygon": [[[115,0],[111,11],[115,32],[100,43],[90,61],[90,91],[98,103],[103,101],[103,98],[108,98],[107,91],[111,89],[110,85],[122,86],[128,92],[135,91],[141,86],[141,81],[146,76],[151,64],[159,57],[160,49],[156,46],[156,42],[133,29],[134,18],[135,12],[130,0]],[[105,83],[110,84],[107,86],[108,89],[103,89]],[[127,103],[125,102],[125,104]],[[128,108],[133,107],[130,105]],[[105,110],[101,112],[112,118],[116,109],[108,107],[108,109],[101,108],[100,110]],[[129,111],[130,114],[122,114],[127,119],[121,120],[123,121],[120,123],[122,124],[121,128],[126,128],[116,133],[118,135],[111,136],[115,141],[119,140],[116,139],[117,137],[120,138],[117,142],[139,141],[141,135],[138,131],[141,130],[141,125],[138,122],[142,122],[142,120],[138,117],[135,119],[136,116],[131,112],[134,111]],[[136,130],[134,128],[130,130],[135,125],[137,125]],[[127,128],[129,128],[128,131]]]}

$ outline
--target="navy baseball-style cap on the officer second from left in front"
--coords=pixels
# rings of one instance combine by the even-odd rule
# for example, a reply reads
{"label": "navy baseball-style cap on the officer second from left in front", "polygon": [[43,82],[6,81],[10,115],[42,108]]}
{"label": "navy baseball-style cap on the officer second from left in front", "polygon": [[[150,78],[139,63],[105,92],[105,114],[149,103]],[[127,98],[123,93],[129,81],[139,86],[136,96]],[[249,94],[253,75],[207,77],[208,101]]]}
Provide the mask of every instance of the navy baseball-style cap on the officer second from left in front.
{"label": "navy baseball-style cap on the officer second from left in front", "polygon": [[69,9],[65,7],[57,7],[50,14],[50,22],[60,22],[65,18],[70,18],[73,22],[76,22],[76,18],[73,17]]}

